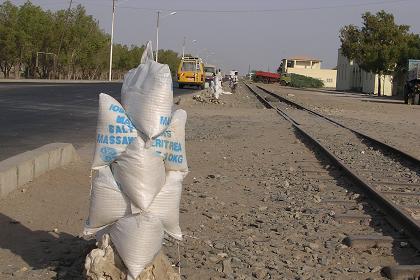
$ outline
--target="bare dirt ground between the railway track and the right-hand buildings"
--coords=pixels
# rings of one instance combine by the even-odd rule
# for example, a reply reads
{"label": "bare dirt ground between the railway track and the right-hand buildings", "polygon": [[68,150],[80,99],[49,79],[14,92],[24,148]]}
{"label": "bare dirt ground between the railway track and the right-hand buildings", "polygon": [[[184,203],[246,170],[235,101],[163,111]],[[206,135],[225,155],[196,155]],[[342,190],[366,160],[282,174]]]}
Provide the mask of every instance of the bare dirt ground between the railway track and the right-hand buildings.
{"label": "bare dirt ground between the railway track and the right-hand buildings", "polygon": [[393,97],[260,85],[420,158],[420,106],[408,106]]}

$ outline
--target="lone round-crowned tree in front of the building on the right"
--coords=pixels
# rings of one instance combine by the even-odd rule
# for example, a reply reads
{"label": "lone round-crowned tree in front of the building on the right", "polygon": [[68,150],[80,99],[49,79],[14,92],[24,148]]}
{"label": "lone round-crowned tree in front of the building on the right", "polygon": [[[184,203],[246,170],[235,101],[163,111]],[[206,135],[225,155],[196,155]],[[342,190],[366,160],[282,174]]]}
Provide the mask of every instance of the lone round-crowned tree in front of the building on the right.
{"label": "lone round-crowned tree in front of the building on the right", "polygon": [[378,95],[381,95],[381,77],[394,72],[401,51],[407,44],[409,26],[397,25],[392,14],[385,11],[362,15],[363,26],[344,26],[340,30],[341,50],[360,68],[379,75]]}

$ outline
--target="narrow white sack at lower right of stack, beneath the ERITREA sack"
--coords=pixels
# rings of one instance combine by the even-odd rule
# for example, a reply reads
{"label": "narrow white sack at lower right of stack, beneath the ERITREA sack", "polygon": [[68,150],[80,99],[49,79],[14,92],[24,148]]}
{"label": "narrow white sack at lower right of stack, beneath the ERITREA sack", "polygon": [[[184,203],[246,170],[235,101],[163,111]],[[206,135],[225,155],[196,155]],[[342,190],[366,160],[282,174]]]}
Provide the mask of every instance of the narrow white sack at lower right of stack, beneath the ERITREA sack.
{"label": "narrow white sack at lower right of stack, beneath the ERITREA sack", "polygon": [[148,209],[148,212],[160,219],[165,232],[178,240],[182,240],[179,227],[179,204],[182,181],[186,175],[187,172],[167,171],[165,185]]}

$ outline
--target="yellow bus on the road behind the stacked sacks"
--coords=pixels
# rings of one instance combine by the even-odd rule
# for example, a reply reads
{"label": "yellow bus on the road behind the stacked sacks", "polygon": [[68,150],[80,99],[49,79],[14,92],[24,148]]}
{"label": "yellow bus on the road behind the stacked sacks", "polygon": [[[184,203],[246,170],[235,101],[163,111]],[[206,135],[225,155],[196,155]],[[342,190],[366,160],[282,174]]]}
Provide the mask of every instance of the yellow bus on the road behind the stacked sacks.
{"label": "yellow bus on the road behind the stacked sacks", "polygon": [[203,61],[198,57],[184,57],[178,67],[178,87],[186,85],[204,89],[205,76]]}

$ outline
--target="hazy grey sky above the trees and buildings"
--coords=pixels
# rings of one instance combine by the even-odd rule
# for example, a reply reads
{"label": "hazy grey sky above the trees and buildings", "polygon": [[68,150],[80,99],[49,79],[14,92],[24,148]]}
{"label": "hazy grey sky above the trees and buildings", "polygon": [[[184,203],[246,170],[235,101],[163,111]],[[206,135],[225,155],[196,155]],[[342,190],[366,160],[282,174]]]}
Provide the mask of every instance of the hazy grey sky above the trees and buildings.
{"label": "hazy grey sky above the trees and buildings", "polygon": [[[12,0],[22,4],[25,0]],[[43,8],[66,9],[69,0],[33,0]],[[74,0],[111,30],[112,0]],[[284,57],[319,58],[324,68],[337,63],[338,31],[361,23],[364,11],[384,9],[399,24],[420,33],[420,0],[117,0],[115,41],[143,44],[156,38],[156,11],[160,21],[159,48],[199,53],[224,70],[274,71]],[[197,40],[192,43],[192,40]]]}

